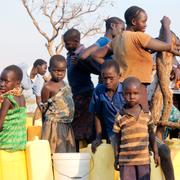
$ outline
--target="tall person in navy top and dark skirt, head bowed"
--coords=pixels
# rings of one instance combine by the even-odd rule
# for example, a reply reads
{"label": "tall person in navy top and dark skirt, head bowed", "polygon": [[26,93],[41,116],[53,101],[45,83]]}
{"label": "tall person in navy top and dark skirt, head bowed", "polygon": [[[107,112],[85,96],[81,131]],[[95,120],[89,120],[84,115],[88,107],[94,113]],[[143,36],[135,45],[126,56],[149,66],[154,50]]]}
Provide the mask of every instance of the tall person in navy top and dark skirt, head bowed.
{"label": "tall person in navy top and dark skirt, head bowed", "polygon": [[80,32],[76,29],[69,29],[63,35],[67,54],[67,77],[73,93],[75,103],[75,115],[72,123],[77,151],[79,141],[85,140],[91,143],[94,132],[93,114],[88,112],[92,92],[94,90],[90,72],[81,61],[78,61],[79,53],[84,49],[80,44]]}

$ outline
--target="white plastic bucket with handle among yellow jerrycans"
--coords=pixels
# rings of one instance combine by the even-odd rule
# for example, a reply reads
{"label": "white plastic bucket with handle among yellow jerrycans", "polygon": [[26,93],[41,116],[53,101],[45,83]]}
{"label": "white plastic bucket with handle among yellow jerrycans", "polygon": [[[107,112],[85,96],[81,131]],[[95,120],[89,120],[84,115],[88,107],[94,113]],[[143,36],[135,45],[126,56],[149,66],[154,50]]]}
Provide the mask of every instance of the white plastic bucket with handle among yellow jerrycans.
{"label": "white plastic bucket with handle among yellow jerrycans", "polygon": [[88,180],[90,159],[89,153],[53,154],[55,180]]}

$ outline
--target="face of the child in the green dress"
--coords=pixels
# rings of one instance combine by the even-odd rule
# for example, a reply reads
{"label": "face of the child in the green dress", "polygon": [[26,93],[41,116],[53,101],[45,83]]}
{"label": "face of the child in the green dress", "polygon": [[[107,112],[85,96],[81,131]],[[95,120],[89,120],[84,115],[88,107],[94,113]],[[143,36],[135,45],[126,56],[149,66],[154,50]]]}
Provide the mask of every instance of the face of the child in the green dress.
{"label": "face of the child in the green dress", "polygon": [[16,88],[20,82],[15,77],[13,71],[3,71],[0,77],[0,89],[3,92],[7,92]]}

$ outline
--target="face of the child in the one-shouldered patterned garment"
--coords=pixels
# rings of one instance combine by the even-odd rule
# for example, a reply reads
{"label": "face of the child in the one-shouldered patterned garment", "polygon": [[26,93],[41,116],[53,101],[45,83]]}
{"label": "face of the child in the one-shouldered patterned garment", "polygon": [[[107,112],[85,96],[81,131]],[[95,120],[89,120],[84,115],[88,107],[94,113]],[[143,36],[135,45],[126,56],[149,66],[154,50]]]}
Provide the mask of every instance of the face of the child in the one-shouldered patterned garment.
{"label": "face of the child in the one-shouldered patterned garment", "polygon": [[50,73],[53,81],[59,82],[63,80],[66,74],[66,63],[65,62],[55,63],[53,67],[50,67]]}

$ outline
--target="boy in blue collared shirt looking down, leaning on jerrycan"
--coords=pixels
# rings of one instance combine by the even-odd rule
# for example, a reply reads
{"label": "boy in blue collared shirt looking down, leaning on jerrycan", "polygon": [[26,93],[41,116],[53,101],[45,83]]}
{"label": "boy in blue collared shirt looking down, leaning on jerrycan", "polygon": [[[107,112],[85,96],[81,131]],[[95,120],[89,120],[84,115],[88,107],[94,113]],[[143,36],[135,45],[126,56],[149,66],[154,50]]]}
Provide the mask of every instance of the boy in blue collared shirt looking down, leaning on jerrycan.
{"label": "boy in blue collared shirt looking down, leaning on jerrycan", "polygon": [[[103,84],[94,90],[89,111],[95,114],[96,140],[92,143],[92,151],[101,144],[102,133],[107,133],[114,146],[115,133],[112,131],[115,116],[123,106],[122,85],[119,83],[119,65],[116,61],[106,61],[101,70]],[[103,137],[104,138],[104,137]]]}

